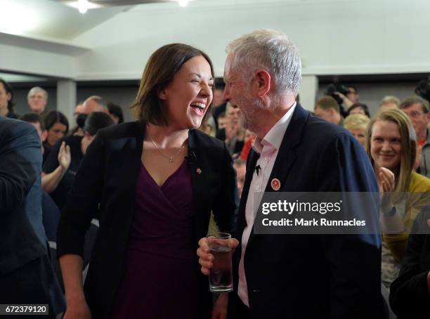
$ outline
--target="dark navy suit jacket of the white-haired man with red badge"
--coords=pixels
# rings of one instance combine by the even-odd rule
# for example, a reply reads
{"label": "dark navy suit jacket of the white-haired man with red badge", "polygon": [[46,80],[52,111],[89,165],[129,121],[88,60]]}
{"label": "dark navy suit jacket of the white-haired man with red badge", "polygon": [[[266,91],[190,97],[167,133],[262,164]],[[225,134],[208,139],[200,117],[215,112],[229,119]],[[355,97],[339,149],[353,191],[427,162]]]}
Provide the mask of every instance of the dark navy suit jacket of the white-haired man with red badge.
{"label": "dark navy suit jacket of the white-haired man with red badge", "polygon": [[[245,204],[258,155],[250,152],[237,220],[242,241]],[[377,192],[364,149],[345,129],[297,105],[270,181],[280,192]],[[374,216],[378,218],[377,214]],[[380,318],[380,235],[256,235],[245,252],[251,317]],[[233,257],[237,294],[241,249]],[[234,306],[234,305],[233,305]]]}

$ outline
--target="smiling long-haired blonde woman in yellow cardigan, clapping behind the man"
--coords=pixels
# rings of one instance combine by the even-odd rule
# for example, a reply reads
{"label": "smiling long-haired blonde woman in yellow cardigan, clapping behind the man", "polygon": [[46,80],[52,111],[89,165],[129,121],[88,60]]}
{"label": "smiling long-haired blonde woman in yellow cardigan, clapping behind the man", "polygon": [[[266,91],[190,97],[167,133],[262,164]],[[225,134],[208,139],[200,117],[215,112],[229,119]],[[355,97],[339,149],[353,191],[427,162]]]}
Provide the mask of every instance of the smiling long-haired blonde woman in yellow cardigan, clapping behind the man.
{"label": "smiling long-haired blonde woman in yellow cardigan, clapping behind the man", "polygon": [[430,180],[413,171],[415,132],[398,109],[375,115],[367,126],[365,148],[382,196],[382,282],[388,288],[397,278],[412,223],[429,200],[425,194],[430,192]]}

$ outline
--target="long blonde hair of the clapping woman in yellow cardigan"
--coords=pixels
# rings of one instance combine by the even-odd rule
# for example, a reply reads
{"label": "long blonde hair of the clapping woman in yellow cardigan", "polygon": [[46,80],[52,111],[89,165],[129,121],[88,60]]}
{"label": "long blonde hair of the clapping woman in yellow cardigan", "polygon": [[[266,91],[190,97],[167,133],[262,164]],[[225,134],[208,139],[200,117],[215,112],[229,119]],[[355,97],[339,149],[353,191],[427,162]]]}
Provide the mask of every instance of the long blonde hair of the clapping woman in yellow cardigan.
{"label": "long blonde hair of the clapping woman in yellow cardigan", "polygon": [[384,110],[377,113],[367,126],[365,150],[370,158],[370,162],[374,164],[372,153],[370,152],[370,144],[372,139],[372,129],[374,123],[378,121],[388,121],[397,124],[400,132],[400,169],[396,176],[395,192],[408,192],[410,178],[415,164],[415,156],[417,153],[417,138],[415,136],[414,127],[410,122],[408,115],[398,109]]}

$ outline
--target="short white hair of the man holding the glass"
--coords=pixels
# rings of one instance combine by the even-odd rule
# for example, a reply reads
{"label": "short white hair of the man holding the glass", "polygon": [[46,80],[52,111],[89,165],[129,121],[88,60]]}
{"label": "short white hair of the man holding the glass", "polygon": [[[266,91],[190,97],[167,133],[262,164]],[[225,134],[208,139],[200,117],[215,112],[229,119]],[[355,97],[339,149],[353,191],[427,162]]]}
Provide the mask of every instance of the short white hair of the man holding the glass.
{"label": "short white hair of the man holding the glass", "polygon": [[226,52],[232,55],[232,67],[245,80],[264,69],[274,77],[278,93],[297,95],[301,81],[299,50],[287,35],[275,30],[256,30],[230,42]]}

